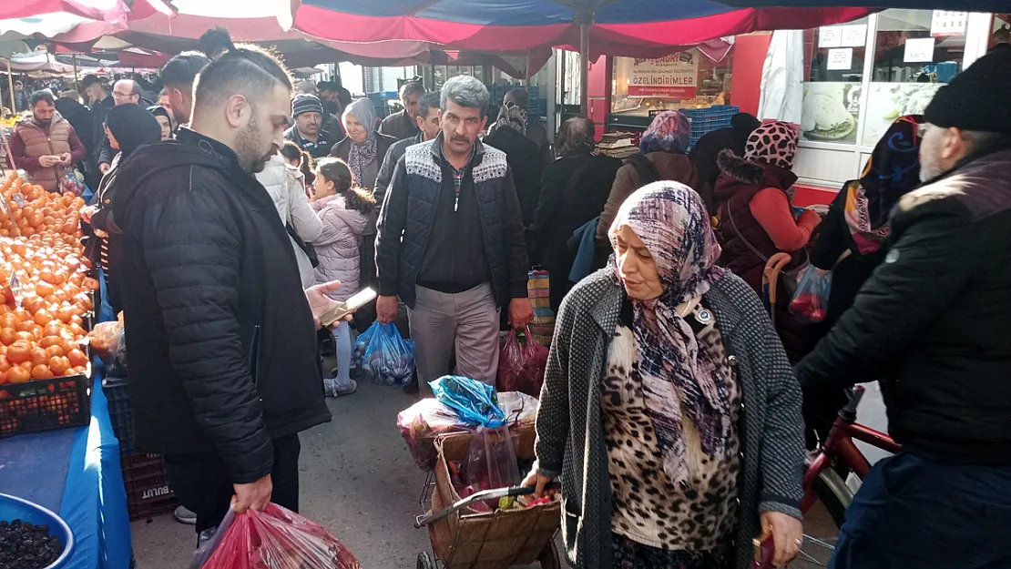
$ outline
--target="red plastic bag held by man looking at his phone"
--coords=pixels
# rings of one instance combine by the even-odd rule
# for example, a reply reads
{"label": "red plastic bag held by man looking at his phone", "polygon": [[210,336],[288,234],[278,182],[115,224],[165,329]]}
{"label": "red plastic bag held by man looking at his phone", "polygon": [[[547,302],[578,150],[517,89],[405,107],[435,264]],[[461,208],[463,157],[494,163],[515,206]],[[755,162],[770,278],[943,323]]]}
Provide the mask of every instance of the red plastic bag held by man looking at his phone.
{"label": "red plastic bag held by man looking at his phone", "polygon": [[225,515],[217,533],[193,554],[190,569],[361,569],[318,524],[277,504]]}

